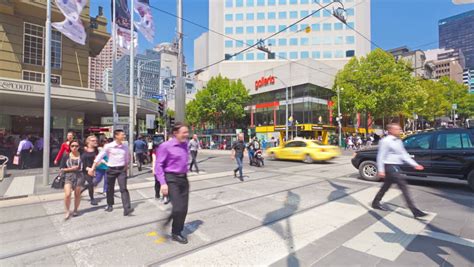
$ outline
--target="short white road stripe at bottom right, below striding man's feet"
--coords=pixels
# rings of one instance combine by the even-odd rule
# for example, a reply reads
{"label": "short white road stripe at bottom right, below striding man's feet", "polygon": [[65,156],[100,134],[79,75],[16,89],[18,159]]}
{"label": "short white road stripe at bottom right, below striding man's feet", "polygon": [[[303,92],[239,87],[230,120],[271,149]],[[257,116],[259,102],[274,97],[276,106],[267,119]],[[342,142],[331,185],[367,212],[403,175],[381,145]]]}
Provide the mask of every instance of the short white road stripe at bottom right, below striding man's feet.
{"label": "short white road stripe at bottom right, below striding man's feet", "polygon": [[397,208],[343,246],[394,261],[435,216],[429,213],[423,220],[415,220],[407,209]]}

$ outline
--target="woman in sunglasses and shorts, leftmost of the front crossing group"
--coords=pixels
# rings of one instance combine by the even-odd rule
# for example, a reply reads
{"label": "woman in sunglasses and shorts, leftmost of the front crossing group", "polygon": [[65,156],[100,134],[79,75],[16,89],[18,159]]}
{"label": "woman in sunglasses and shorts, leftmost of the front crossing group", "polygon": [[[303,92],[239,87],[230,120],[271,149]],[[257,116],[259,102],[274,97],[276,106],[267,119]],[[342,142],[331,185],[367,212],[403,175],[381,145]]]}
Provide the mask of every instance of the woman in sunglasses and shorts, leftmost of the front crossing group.
{"label": "woman in sunglasses and shorts, leftmost of the front crossing group", "polygon": [[81,187],[84,184],[83,164],[79,153],[79,141],[69,142],[70,153],[63,156],[61,160],[61,172],[65,176],[64,182],[64,204],[66,208],[65,220],[71,217],[71,193],[74,191],[74,211],[72,216],[78,216],[77,209],[81,203]]}

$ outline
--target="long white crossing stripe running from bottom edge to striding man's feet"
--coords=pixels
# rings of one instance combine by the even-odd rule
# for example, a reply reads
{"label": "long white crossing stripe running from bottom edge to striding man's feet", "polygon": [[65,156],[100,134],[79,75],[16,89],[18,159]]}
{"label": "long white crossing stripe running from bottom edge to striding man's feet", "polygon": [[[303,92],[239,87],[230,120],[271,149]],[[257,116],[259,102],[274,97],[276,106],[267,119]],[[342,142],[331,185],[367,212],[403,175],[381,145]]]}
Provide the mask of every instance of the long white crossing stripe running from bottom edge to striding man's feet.
{"label": "long white crossing stripe running from bottom edge to striding man's feet", "polygon": [[[266,227],[193,251],[164,265],[271,265],[366,214],[368,203],[377,191],[378,188],[375,187],[359,191]],[[399,190],[389,191],[386,200],[399,195]],[[294,209],[296,212],[297,207],[298,203],[287,202],[282,209]]]}

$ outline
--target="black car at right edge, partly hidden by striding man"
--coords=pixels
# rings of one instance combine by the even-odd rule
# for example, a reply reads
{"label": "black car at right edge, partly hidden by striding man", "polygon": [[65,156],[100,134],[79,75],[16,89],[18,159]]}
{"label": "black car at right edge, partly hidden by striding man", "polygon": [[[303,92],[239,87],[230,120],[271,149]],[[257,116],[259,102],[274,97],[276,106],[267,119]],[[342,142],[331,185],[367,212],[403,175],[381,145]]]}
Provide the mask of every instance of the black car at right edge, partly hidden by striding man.
{"label": "black car at right edge, partly hidden by striding man", "polygon": [[[408,153],[423,171],[411,166],[402,166],[405,174],[411,176],[443,176],[467,180],[474,190],[474,129],[443,129],[410,135],[403,139]],[[359,169],[365,180],[378,181],[377,147],[357,151],[352,165]]]}

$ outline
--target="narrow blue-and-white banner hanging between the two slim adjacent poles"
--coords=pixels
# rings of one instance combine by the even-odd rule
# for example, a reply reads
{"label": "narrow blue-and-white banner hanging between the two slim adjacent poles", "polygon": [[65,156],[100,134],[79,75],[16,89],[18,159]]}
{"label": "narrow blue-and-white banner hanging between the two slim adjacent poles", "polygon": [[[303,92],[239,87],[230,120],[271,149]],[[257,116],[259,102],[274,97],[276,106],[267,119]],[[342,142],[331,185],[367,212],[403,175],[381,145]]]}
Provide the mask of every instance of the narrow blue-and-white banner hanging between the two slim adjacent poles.
{"label": "narrow blue-and-white banner hanging between the two slim adjacent poles", "polygon": [[[113,4],[114,1],[112,1]],[[112,8],[113,10],[113,8]],[[114,14],[112,14],[114,15]],[[115,0],[115,16],[113,16],[116,23],[116,37],[115,40],[119,49],[125,53],[130,54],[131,45],[131,18],[130,10],[128,9],[127,0]],[[137,46],[137,38],[134,38],[134,46]]]}

